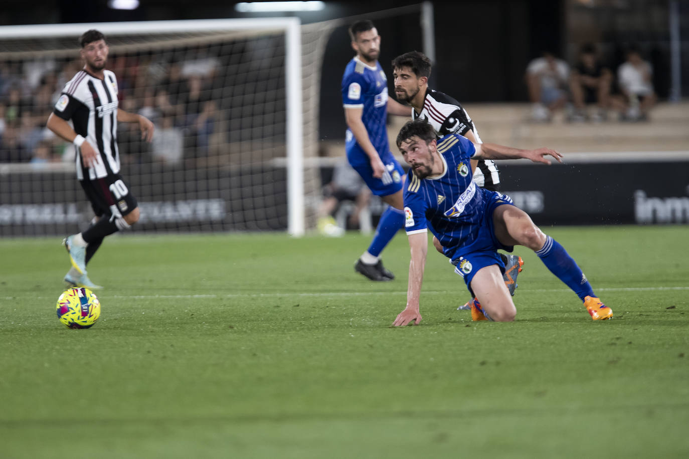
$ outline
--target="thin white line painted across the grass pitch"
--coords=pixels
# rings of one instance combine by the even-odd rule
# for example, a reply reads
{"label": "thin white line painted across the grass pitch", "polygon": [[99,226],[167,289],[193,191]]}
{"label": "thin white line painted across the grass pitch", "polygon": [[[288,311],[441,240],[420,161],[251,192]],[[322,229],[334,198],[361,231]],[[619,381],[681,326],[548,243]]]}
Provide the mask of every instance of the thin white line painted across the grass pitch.
{"label": "thin white line painted across the grass pitch", "polygon": [[[639,292],[639,291],[658,291],[658,290],[689,290],[689,286],[678,287],[633,287],[633,288],[596,288],[598,292]],[[538,288],[524,290],[525,292],[570,292],[568,288]],[[422,291],[424,295],[446,295],[451,293],[447,290]],[[463,292],[462,292],[463,293]],[[363,297],[370,295],[407,295],[407,292],[314,292],[314,293],[226,293],[222,295],[107,295],[96,291],[96,295],[103,298],[121,299],[189,299],[189,298],[241,298],[241,297]],[[5,300],[17,299],[17,297],[3,297]],[[52,297],[32,297],[36,299],[50,299]]]}

